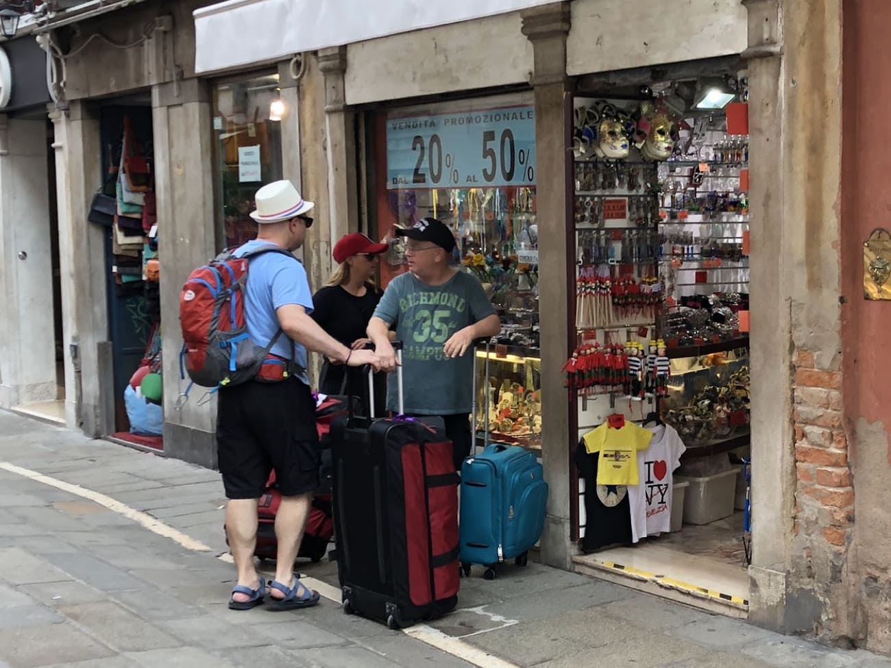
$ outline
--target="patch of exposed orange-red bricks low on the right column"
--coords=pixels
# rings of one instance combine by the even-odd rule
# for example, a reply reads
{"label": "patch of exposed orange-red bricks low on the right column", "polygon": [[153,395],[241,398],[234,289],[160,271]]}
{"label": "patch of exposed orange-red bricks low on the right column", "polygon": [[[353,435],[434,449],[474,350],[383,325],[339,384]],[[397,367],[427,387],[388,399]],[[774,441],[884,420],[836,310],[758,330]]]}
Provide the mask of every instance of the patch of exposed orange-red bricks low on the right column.
{"label": "patch of exposed orange-red bricks low on the right column", "polygon": [[[795,356],[795,534],[821,536],[844,550],[854,530],[854,486],[842,419],[841,372],[816,368],[813,352]],[[804,524],[806,523],[806,524]]]}

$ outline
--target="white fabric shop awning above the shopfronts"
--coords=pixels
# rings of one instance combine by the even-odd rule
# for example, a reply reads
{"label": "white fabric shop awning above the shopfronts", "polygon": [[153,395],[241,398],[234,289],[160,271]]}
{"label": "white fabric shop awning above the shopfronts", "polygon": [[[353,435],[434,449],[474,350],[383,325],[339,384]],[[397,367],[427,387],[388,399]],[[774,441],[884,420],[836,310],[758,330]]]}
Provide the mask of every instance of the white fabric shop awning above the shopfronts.
{"label": "white fabric shop awning above the shopfronts", "polygon": [[[516,12],[553,0],[227,0],[195,10],[195,71]],[[406,63],[410,67],[411,63]]]}

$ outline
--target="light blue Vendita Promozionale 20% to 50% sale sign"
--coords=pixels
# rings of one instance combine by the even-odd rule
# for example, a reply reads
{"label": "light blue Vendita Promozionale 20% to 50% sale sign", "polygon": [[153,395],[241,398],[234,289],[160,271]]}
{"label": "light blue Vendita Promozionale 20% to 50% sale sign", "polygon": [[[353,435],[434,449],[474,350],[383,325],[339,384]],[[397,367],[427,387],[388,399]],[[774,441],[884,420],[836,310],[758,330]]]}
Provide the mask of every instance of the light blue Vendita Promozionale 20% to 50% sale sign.
{"label": "light blue Vendita Promozionale 20% to 50% sale sign", "polygon": [[535,109],[387,119],[387,187],[535,185]]}

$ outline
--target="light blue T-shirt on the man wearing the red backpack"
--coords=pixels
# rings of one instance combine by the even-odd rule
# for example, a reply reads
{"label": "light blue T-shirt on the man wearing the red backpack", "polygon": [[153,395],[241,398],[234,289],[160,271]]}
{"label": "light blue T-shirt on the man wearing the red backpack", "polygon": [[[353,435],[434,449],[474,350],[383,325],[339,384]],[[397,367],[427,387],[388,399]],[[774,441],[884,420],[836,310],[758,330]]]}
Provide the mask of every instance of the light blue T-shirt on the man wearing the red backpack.
{"label": "light blue T-shirt on the man wearing the red backpack", "polygon": [[[250,250],[268,245],[270,242],[266,240],[250,240],[237,248],[233,255],[241,257]],[[244,314],[250,340],[255,345],[269,345],[275,333],[281,329],[275,310],[290,304],[303,306],[307,314],[313,312],[313,294],[303,264],[296,257],[274,251],[251,257]],[[307,349],[291,341],[284,332],[269,352],[307,368]],[[309,384],[306,373],[301,374],[300,379]]]}

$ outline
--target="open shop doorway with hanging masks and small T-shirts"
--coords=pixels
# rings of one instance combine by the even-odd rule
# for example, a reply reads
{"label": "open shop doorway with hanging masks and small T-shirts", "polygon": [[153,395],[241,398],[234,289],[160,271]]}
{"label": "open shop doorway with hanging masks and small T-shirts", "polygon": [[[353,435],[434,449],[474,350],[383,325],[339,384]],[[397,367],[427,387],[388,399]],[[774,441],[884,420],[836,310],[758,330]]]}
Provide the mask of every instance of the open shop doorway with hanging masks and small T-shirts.
{"label": "open shop doorway with hanging masks and small T-shirts", "polygon": [[[748,614],[751,545],[742,67],[691,63],[630,86],[583,77],[568,363],[576,568],[736,616]],[[608,479],[625,445],[637,477]]]}

